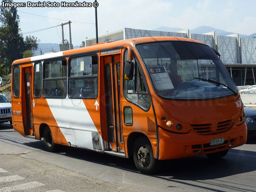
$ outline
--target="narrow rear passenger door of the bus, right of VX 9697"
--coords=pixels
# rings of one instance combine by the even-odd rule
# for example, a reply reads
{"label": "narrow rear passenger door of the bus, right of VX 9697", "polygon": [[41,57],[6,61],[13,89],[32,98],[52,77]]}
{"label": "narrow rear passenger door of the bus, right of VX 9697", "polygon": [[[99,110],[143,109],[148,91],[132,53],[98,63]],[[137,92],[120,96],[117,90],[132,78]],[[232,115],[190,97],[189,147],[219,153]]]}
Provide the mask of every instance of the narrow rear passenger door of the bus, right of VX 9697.
{"label": "narrow rear passenger door of the bus, right of VX 9697", "polygon": [[33,124],[32,124],[32,103],[31,103],[31,80],[32,80],[32,66],[23,68],[24,77],[22,86],[22,114],[25,135],[34,136]]}

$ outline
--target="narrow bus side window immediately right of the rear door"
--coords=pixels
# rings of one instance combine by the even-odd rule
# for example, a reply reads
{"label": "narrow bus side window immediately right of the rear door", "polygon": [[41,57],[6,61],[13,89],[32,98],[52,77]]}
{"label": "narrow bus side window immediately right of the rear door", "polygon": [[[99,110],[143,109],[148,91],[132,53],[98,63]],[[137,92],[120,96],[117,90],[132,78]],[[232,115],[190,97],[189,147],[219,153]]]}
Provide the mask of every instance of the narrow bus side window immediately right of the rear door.
{"label": "narrow bus side window immediately right of the rear door", "polygon": [[40,98],[42,95],[42,63],[34,64],[34,97]]}

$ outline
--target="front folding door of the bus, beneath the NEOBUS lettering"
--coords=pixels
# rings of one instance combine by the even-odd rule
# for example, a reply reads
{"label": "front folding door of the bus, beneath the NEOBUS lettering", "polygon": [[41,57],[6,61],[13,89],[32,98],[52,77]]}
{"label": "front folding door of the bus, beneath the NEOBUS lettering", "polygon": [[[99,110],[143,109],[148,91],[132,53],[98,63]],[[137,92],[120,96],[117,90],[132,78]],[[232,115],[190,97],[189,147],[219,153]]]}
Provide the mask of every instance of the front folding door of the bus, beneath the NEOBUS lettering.
{"label": "front folding door of the bus, beneath the NEOBUS lettering", "polygon": [[104,57],[105,106],[108,150],[124,153],[120,115],[121,54]]}

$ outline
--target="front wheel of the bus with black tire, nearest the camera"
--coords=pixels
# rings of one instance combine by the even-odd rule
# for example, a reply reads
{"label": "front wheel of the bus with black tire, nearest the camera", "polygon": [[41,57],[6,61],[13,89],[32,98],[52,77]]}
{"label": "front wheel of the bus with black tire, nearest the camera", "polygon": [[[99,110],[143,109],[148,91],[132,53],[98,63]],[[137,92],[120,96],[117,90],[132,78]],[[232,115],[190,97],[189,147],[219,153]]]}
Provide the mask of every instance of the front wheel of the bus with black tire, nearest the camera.
{"label": "front wheel of the bus with black tire, nearest the camera", "polygon": [[135,140],[132,154],[134,164],[141,173],[151,174],[158,170],[158,160],[154,158],[153,148],[147,138]]}

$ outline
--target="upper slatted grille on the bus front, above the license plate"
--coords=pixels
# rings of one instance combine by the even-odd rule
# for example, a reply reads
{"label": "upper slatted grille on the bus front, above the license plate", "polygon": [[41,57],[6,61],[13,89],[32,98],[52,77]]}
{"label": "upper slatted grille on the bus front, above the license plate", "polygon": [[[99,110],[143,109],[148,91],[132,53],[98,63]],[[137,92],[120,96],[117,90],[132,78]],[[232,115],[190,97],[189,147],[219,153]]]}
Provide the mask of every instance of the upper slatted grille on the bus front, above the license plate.
{"label": "upper slatted grille on the bus front, above the license plate", "polygon": [[194,132],[200,135],[209,135],[228,130],[232,125],[232,120],[222,121],[215,124],[191,124]]}

